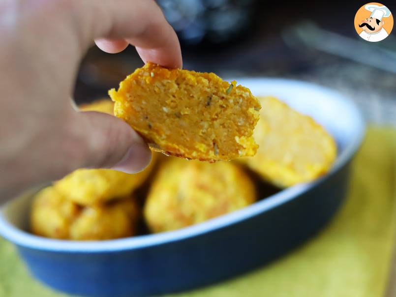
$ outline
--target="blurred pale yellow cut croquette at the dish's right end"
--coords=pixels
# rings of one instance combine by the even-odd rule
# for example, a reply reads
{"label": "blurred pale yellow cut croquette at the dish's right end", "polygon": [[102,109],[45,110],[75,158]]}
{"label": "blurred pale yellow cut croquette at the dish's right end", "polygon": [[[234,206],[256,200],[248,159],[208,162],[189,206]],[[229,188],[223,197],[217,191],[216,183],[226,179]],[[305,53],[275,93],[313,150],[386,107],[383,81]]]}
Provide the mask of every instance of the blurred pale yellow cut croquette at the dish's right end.
{"label": "blurred pale yellow cut croquette at the dish's right end", "polygon": [[248,167],[280,187],[308,182],[331,168],[337,153],[333,137],[311,117],[272,96],[259,97],[263,108],[254,129],[255,156]]}

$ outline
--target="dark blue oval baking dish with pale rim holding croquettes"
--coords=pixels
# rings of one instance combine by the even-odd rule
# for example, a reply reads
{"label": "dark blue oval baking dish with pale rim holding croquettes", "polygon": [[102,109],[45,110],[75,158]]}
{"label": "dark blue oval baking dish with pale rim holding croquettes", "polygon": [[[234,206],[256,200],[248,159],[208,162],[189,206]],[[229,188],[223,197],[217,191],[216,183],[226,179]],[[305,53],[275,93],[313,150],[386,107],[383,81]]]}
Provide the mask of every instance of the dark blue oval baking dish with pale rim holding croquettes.
{"label": "dark blue oval baking dish with pale rim holding croquettes", "polygon": [[245,78],[254,95],[274,95],[312,116],[335,137],[332,170],[246,208],[177,231],[105,241],[41,238],[26,230],[35,190],[1,208],[0,234],[31,273],[49,286],[84,296],[144,296],[208,285],[262,266],[322,228],[341,205],[364,121],[347,98],[310,83]]}

